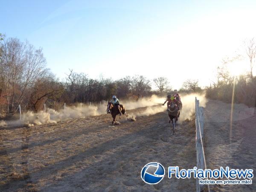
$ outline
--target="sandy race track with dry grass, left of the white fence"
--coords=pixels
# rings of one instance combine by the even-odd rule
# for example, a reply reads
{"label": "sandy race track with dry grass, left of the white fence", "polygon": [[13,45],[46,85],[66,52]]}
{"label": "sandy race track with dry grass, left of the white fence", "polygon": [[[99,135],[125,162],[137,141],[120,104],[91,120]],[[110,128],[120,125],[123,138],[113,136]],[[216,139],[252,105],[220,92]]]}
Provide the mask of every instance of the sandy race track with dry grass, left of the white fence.
{"label": "sandy race track with dry grass, left of the white fence", "polygon": [[122,116],[112,127],[111,116],[104,114],[1,128],[0,191],[194,191],[195,179],[166,174],[159,184],[148,185],[140,178],[149,162],[161,163],[166,171],[196,165],[194,120],[178,124],[172,135],[167,112],[136,119]]}

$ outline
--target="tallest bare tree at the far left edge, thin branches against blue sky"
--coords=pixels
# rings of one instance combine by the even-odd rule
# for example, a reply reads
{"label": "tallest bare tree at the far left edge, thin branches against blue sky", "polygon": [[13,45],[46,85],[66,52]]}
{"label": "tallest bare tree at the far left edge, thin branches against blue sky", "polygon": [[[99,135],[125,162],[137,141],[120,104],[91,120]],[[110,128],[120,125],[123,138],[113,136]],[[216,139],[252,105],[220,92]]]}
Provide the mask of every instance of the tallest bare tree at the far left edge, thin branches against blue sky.
{"label": "tallest bare tree at the far left edge, thin branches against blue sky", "polygon": [[42,49],[35,49],[28,42],[9,38],[1,44],[1,78],[7,97],[7,113],[13,114],[23,101],[28,86],[45,73],[46,60]]}

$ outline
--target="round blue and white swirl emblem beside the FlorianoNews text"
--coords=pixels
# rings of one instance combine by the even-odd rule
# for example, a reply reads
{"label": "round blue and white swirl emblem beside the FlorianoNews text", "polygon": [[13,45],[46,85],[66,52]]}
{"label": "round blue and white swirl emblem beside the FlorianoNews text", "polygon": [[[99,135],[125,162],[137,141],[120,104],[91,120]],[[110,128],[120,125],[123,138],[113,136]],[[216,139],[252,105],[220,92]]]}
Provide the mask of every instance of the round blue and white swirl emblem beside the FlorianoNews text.
{"label": "round blue and white swirl emblem beside the FlorianoNews text", "polygon": [[148,184],[159,183],[165,175],[165,169],[160,163],[151,162],[141,169],[141,179]]}

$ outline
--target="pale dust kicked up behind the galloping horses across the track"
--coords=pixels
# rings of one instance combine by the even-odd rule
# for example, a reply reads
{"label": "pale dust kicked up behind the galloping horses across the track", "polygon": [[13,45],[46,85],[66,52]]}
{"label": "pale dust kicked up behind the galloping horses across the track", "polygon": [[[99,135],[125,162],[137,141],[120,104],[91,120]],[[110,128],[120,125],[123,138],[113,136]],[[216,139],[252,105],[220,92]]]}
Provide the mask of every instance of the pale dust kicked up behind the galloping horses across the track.
{"label": "pale dust kicked up behind the galloping horses across the track", "polygon": [[[205,106],[207,99],[204,94],[180,94],[181,101],[183,103],[183,108],[180,113],[180,122],[183,122],[186,119],[190,119],[192,114],[195,111],[195,96],[200,100],[200,105]],[[140,112],[134,112],[128,114],[128,119],[136,121],[138,116],[149,116],[154,115],[160,112],[166,112],[166,105],[163,106],[163,102],[166,98],[152,95],[151,97],[139,99],[138,101],[129,101],[125,100],[121,104],[125,106],[126,110],[132,110],[137,108],[146,107]],[[105,105],[84,105],[77,104],[76,106],[67,106],[65,109],[55,111],[53,109],[47,108],[46,111],[39,111],[38,113],[27,111],[21,116],[21,120],[15,120],[10,122],[1,121],[0,127],[8,126],[34,126],[42,125],[47,123],[57,123],[67,119],[76,119],[82,118],[85,116],[98,116],[105,114],[106,106]]]}

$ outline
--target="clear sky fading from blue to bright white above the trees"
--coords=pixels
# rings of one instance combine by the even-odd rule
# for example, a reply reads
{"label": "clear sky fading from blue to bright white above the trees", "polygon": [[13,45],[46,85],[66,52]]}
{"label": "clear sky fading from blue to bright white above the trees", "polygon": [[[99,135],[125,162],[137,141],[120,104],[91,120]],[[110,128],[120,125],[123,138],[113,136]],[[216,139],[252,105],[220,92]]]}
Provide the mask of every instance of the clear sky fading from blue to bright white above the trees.
{"label": "clear sky fading from blue to bright white above the trees", "polygon": [[[69,68],[119,79],[135,74],[215,80],[221,59],[256,35],[255,1],[1,2],[0,32],[42,47],[47,67],[60,79]],[[112,73],[118,71],[119,73]]]}

